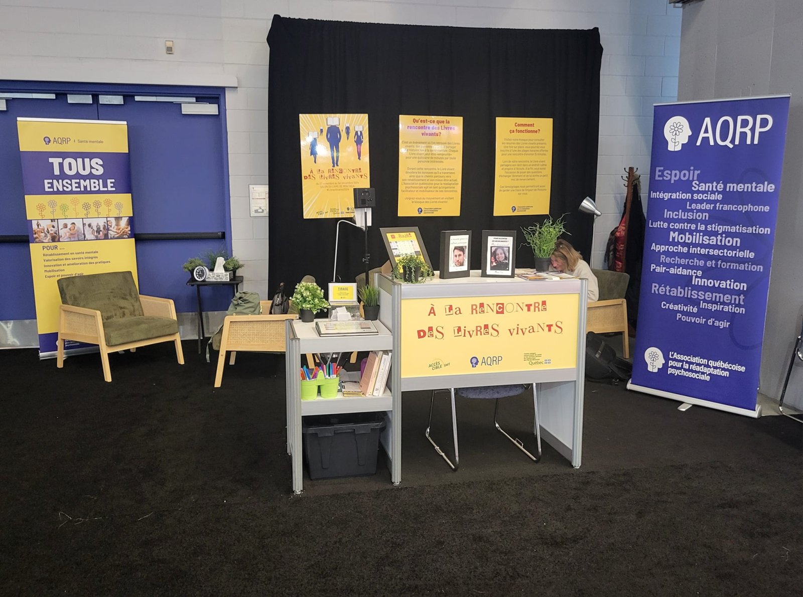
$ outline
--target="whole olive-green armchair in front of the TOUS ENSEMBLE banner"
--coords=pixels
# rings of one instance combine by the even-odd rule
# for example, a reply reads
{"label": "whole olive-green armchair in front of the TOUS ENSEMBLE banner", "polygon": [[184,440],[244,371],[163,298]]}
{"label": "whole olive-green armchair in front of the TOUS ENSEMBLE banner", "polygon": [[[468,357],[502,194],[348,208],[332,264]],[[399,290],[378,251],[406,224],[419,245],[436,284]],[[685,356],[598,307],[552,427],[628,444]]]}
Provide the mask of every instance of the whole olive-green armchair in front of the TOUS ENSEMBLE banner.
{"label": "whole olive-green armchair in front of the TOUS ENSEMBLE banner", "polygon": [[130,271],[71,276],[57,283],[62,303],[57,367],[64,366],[65,340],[97,344],[106,381],[112,381],[109,351],[173,342],[178,363],[184,364],[173,301],[139,294]]}

